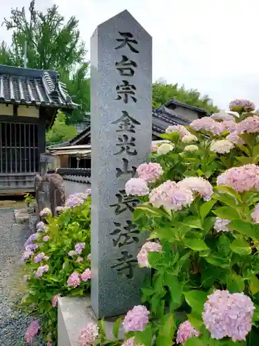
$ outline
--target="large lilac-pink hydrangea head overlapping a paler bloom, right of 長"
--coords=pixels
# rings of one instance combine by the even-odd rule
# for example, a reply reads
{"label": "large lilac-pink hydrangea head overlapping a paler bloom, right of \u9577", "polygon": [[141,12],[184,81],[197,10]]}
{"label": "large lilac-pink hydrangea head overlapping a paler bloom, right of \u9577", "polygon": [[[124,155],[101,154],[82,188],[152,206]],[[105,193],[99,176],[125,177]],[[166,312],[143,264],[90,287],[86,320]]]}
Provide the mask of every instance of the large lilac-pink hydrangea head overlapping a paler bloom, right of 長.
{"label": "large lilac-pink hydrangea head overlapping a paler bloom, right of \u9577", "polygon": [[149,201],[156,208],[164,206],[170,210],[182,210],[193,201],[193,192],[175,181],[166,181],[151,191]]}

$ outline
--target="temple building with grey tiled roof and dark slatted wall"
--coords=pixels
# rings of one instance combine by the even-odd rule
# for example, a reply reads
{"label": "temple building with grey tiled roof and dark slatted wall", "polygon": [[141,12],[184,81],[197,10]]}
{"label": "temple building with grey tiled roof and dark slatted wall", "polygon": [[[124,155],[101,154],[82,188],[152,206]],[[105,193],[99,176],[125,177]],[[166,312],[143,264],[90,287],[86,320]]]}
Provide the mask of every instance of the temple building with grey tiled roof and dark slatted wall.
{"label": "temple building with grey tiled roof and dark slatted wall", "polygon": [[34,190],[46,130],[58,109],[79,107],[57,72],[0,64],[0,194]]}

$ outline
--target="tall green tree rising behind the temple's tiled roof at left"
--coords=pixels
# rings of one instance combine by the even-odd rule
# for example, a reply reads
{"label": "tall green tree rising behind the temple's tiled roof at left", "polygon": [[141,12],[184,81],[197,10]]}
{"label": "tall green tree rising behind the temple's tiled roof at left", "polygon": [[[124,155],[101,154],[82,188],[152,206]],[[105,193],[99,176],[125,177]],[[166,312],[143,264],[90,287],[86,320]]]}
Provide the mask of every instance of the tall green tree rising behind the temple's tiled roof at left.
{"label": "tall green tree rising behind the temple's tiled roof at left", "polygon": [[27,42],[27,66],[32,69],[55,70],[74,102],[82,105],[68,116],[68,123],[84,118],[90,110],[90,86],[86,48],[80,39],[78,20],[73,16],[66,22],[53,5],[43,13],[30,1],[28,12],[24,7],[11,10],[3,25],[12,30],[12,46],[0,46],[0,63],[23,66],[24,46]]}

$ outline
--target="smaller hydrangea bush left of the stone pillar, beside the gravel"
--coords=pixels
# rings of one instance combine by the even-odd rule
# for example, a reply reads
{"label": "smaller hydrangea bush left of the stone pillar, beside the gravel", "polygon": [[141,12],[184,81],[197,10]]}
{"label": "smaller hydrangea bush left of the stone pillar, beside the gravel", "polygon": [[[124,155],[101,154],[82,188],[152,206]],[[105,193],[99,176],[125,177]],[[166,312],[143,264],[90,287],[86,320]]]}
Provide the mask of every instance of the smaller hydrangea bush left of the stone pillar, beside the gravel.
{"label": "smaller hydrangea bush left of the stone pillar, beside the gravel", "polygon": [[73,194],[52,217],[48,208],[41,212],[44,222],[30,235],[22,255],[28,294],[22,306],[36,318],[26,330],[25,341],[32,343],[40,330],[57,345],[57,298],[84,295],[90,289],[90,191]]}

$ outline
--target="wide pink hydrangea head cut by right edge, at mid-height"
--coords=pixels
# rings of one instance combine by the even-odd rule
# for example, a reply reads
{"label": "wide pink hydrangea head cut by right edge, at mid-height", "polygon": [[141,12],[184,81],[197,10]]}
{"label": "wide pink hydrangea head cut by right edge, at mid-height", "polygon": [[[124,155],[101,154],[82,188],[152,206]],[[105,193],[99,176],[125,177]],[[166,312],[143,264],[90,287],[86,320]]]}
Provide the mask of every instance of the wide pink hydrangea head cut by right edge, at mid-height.
{"label": "wide pink hydrangea head cut by right edge, at mid-height", "polygon": [[226,185],[237,192],[251,191],[259,188],[259,167],[254,164],[232,167],[220,174],[217,185]]}

